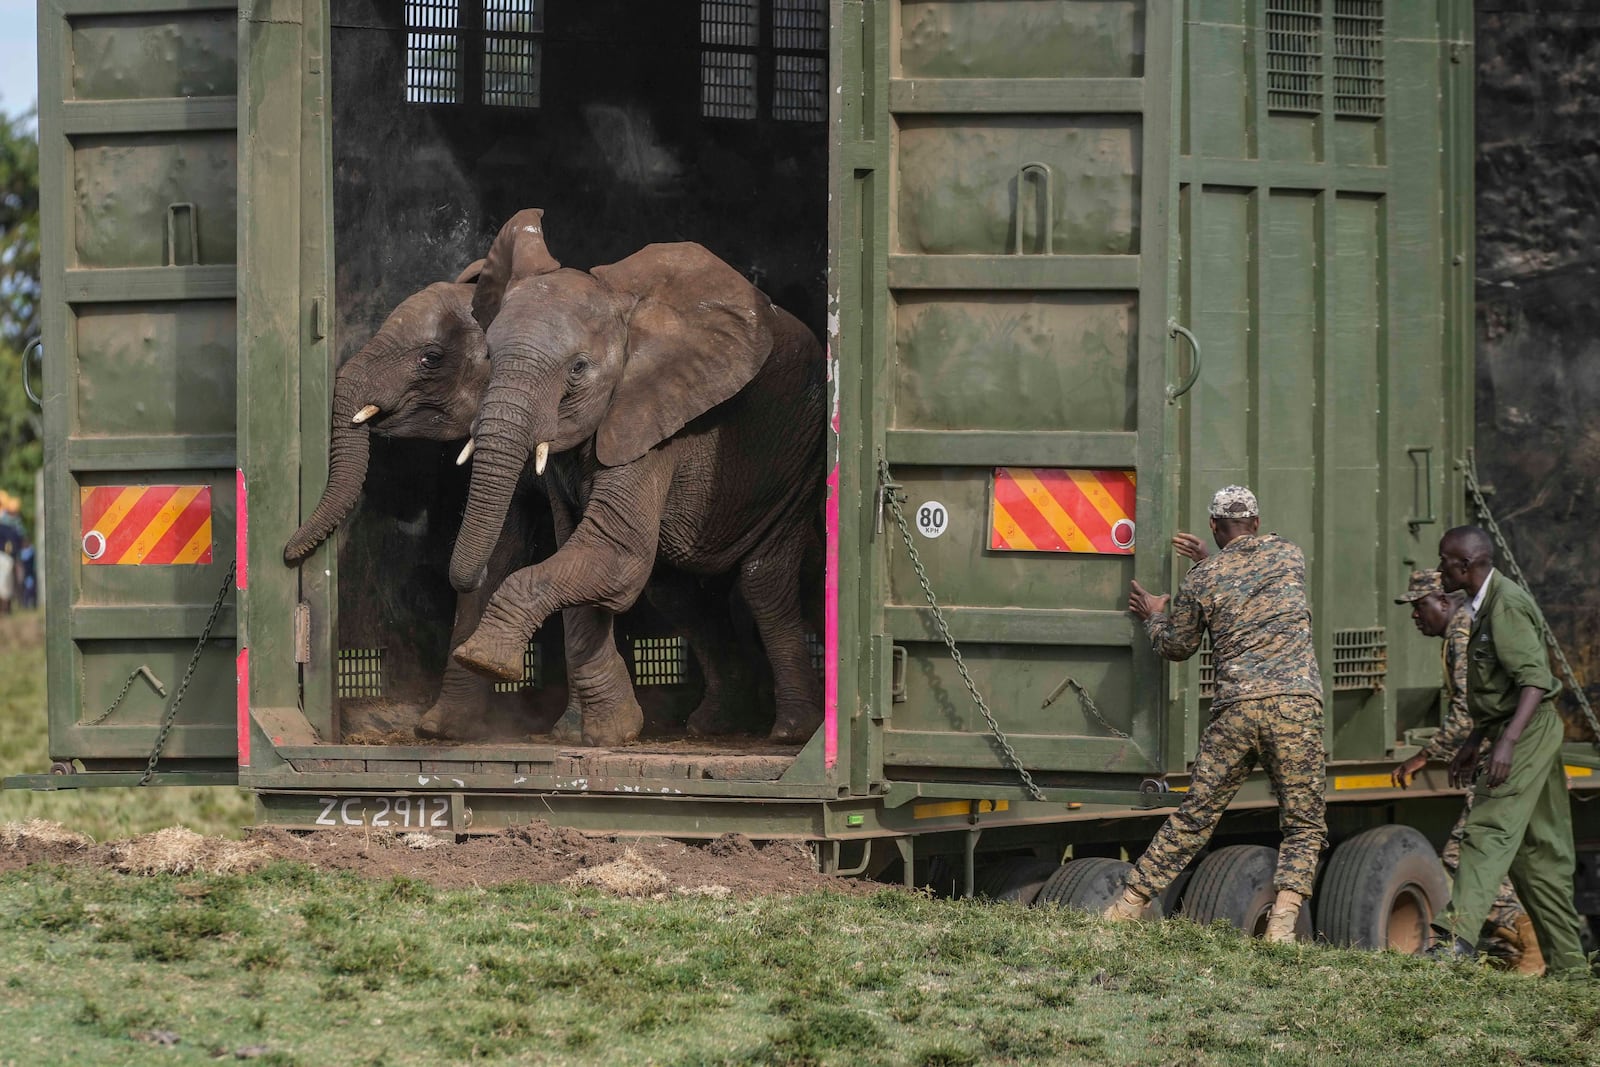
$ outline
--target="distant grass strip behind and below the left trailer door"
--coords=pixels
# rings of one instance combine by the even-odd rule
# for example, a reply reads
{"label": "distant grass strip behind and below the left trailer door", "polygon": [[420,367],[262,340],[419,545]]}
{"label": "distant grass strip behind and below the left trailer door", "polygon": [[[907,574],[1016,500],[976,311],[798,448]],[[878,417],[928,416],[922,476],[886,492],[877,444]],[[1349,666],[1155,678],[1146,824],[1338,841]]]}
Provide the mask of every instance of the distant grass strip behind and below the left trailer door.
{"label": "distant grass strip behind and below the left trailer door", "polygon": [[[43,613],[0,616],[0,776],[50,769],[43,637]],[[19,819],[54,819],[98,841],[168,825],[238,837],[254,808],[242,789],[0,792],[0,822]]]}

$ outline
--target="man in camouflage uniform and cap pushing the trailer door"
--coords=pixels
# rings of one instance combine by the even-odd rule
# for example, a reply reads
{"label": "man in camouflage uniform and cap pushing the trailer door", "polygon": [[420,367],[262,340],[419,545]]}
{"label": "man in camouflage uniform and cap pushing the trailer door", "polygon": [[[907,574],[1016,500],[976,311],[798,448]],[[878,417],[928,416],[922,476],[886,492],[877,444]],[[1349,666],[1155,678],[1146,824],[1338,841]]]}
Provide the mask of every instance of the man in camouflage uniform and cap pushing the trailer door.
{"label": "man in camouflage uniform and cap pushing the trailer door", "polygon": [[1128,609],[1144,621],[1150,646],[1165,659],[1189,659],[1211,632],[1216,696],[1200,737],[1189,793],[1133,865],[1128,886],[1109,909],[1112,921],[1138,918],[1189,865],[1216,829],[1222,809],[1259,757],[1278,797],[1283,846],[1274,875],[1277,899],[1266,941],[1294,941],[1301,904],[1310,896],[1317,854],[1328,840],[1322,747],[1322,675],[1306,603],[1306,557],[1261,533],[1256,496],[1237,485],[1211,498],[1210,555],[1200,539],[1178,534],[1178,550],[1197,560],[1168,597],[1133,582]]}

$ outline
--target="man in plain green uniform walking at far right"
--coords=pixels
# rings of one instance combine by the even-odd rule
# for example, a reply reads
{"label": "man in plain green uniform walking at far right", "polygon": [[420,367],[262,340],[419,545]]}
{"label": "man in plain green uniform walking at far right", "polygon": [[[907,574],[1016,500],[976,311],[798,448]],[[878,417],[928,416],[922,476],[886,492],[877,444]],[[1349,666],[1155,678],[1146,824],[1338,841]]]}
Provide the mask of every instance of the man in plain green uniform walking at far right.
{"label": "man in plain green uniform walking at far right", "polygon": [[1435,957],[1474,955],[1483,925],[1510,872],[1512,885],[1544,949],[1546,974],[1589,977],[1573,907],[1573,813],[1562,769],[1562,720],[1539,609],[1533,597],[1494,569],[1494,544],[1477,526],[1456,526],[1438,542],[1438,571],[1448,592],[1464,590],[1472,609],[1467,643],[1467,712],[1472,734],[1450,761],[1453,784],[1466,785],[1478,747],[1491,744],[1461,840],[1461,865],[1450,907],[1435,920]]}

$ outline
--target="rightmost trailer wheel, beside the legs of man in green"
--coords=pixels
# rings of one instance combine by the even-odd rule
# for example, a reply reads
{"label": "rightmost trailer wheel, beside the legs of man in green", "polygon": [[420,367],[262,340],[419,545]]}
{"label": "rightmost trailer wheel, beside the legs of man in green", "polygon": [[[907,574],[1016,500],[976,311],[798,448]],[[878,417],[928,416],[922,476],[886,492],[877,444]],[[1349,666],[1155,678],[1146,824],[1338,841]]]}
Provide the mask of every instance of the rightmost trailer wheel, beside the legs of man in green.
{"label": "rightmost trailer wheel, beside the legs of man in green", "polygon": [[1445,867],[1408,825],[1379,825],[1333,849],[1322,880],[1317,933],[1336,945],[1421,952],[1450,901]]}

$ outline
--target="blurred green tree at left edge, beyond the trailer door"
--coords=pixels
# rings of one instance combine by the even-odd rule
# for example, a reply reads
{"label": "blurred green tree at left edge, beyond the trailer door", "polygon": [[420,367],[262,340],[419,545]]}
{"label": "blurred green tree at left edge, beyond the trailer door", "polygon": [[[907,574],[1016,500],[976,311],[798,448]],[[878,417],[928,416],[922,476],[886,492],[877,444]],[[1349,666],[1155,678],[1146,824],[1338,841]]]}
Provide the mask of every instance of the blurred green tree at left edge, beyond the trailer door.
{"label": "blurred green tree at left edge, beyond the trailer door", "polygon": [[32,118],[0,115],[0,490],[21,499],[29,533],[34,474],[43,462],[38,411],[22,390],[22,355],[38,336],[38,138]]}

